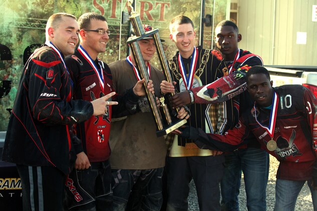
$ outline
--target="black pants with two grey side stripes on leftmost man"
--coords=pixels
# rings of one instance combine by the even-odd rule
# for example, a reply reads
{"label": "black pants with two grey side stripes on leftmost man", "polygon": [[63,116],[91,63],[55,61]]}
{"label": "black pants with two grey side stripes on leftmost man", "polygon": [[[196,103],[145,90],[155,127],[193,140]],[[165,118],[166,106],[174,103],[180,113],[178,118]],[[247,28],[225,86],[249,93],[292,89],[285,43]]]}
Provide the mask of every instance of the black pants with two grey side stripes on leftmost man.
{"label": "black pants with two grey side stripes on leftmost man", "polygon": [[66,175],[53,166],[17,165],[23,210],[63,210]]}

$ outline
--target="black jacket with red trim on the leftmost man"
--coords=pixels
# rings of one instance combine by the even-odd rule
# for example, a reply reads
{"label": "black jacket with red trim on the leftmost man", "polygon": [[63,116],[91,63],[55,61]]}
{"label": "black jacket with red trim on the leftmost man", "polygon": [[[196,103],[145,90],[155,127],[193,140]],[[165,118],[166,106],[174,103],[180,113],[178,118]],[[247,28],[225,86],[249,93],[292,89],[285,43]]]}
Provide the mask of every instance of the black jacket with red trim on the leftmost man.
{"label": "black jacket with red trim on the leftmost man", "polygon": [[72,80],[62,59],[46,45],[30,56],[10,117],[3,160],[55,166],[69,173],[71,125],[87,120],[93,106],[72,100]]}

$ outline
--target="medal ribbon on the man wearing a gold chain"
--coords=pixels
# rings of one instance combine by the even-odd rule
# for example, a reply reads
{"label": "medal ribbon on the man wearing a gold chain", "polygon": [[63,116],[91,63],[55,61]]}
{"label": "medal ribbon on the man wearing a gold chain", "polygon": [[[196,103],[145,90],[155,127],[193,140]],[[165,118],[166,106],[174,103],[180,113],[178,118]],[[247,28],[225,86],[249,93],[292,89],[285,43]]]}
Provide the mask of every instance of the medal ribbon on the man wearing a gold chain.
{"label": "medal ribbon on the man wearing a gold chain", "polygon": [[187,90],[191,89],[191,86],[193,83],[193,79],[194,79],[194,75],[195,75],[194,71],[196,69],[197,58],[198,58],[198,49],[196,47],[194,47],[193,53],[191,54],[190,67],[189,67],[189,72],[188,72],[188,76],[187,76],[182,56],[180,55],[180,53],[178,54],[178,65],[179,65],[180,73],[182,75],[182,78],[183,78],[183,81],[184,81],[184,84],[185,84],[185,87]]}

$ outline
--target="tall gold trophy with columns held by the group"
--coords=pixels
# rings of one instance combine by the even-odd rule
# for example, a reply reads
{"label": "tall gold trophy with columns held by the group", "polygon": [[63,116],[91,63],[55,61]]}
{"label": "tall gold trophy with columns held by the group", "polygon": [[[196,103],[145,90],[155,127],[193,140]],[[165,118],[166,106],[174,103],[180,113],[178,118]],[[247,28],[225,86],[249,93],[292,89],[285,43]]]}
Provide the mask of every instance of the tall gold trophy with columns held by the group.
{"label": "tall gold trophy with columns held by the group", "polygon": [[[156,46],[156,51],[157,54],[159,56],[159,60],[161,63],[161,67],[163,70],[163,74],[165,76],[166,81],[168,82],[173,82],[172,80],[172,75],[169,71],[168,68],[168,64],[166,61],[166,57],[165,57],[165,53],[163,51],[163,46],[161,43],[161,39],[160,36],[158,34],[158,29],[152,29],[149,31],[145,31],[143,28],[143,24],[140,18],[140,14],[138,14],[137,12],[134,11],[133,7],[132,7],[132,2],[133,0],[128,0],[127,1],[127,8],[129,11],[131,11],[131,16],[129,17],[129,19],[131,20],[133,29],[135,31],[136,36],[131,36],[128,38],[127,43],[129,44],[129,46],[131,47],[131,51],[132,54],[134,56],[134,60],[136,63],[136,67],[139,71],[139,75],[141,78],[145,78],[145,81],[143,83],[144,85],[144,89],[146,90],[146,97],[149,101],[149,105],[153,114],[153,118],[155,120],[156,123],[156,135],[157,136],[162,136],[165,134],[170,133],[171,131],[173,131],[174,129],[180,127],[181,125],[185,124],[187,122],[186,119],[178,119],[177,117],[175,117],[174,115],[171,115],[171,113],[173,114],[177,114],[177,110],[172,110],[171,106],[169,105],[168,99],[169,95],[164,95],[162,97],[160,97],[160,102],[161,102],[161,109],[158,109],[156,107],[156,99],[155,99],[155,95],[152,94],[151,92],[149,92],[149,90],[146,88],[146,84],[148,83],[150,77],[148,75],[147,72],[147,67],[144,63],[144,59],[140,50],[140,46],[139,43],[137,42],[138,40],[143,39],[144,37],[147,36],[152,36],[155,46]],[[170,93],[170,95],[174,95],[176,94],[176,92],[174,91],[173,93]]]}

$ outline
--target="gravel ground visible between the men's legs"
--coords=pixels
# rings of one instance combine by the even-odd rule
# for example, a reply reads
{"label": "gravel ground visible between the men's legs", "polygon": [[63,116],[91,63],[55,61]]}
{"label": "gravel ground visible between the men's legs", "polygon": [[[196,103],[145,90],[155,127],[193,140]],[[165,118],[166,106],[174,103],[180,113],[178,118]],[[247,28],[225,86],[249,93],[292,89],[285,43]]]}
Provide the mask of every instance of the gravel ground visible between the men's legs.
{"label": "gravel ground visible between the men's legs", "polygon": [[[269,169],[269,175],[268,175],[268,182],[266,187],[266,210],[272,211],[274,208],[274,202],[275,202],[275,175],[278,167],[278,161],[275,159],[275,157],[270,156],[270,169]],[[243,175],[242,175],[243,177]],[[190,193],[188,197],[189,202],[189,211],[197,211],[198,203],[197,203],[197,194],[195,190],[195,184],[192,181],[190,183]],[[240,211],[247,211],[246,208],[246,196],[245,196],[245,190],[244,190],[244,181],[241,180],[241,188],[240,188],[240,194],[239,194],[239,208]],[[312,202],[311,202],[311,195],[309,191],[309,187],[307,183],[303,186],[301,189],[297,202],[295,205],[295,210],[305,210],[305,211],[313,211]]]}

